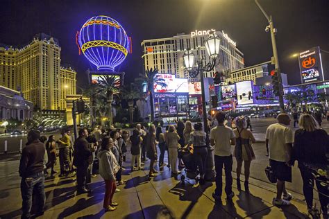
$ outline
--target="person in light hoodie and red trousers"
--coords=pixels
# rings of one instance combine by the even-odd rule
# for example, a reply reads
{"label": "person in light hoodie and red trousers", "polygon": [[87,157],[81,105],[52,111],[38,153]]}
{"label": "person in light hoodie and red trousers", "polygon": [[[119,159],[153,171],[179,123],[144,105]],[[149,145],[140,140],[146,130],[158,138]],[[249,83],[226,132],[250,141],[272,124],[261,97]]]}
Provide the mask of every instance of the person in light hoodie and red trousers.
{"label": "person in light hoodie and red trousers", "polygon": [[112,202],[115,189],[117,189],[115,175],[120,169],[119,163],[111,151],[113,146],[113,139],[105,137],[101,141],[101,151],[98,154],[99,175],[104,179],[106,189],[103,202],[105,211],[114,211],[118,206],[116,202]]}

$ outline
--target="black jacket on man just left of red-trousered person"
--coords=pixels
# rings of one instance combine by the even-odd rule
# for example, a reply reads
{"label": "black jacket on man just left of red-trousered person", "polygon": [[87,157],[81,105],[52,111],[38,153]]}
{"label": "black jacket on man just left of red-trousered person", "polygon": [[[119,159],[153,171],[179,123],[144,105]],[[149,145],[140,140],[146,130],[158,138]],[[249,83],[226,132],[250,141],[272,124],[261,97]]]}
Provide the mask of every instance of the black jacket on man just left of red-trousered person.
{"label": "black jacket on man just left of red-trousered person", "polygon": [[92,151],[85,137],[78,137],[74,142],[74,166],[87,166],[92,164]]}

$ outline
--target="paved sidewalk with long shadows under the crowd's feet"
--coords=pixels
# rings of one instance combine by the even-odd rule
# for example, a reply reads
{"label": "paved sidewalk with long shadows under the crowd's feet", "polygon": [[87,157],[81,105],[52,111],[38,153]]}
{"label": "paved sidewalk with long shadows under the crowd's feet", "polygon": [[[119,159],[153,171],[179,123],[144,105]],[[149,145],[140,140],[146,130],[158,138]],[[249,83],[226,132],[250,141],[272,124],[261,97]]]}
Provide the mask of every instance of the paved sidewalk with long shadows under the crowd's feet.
{"label": "paved sidewalk with long shadows under the crowd's feet", "polygon": [[[21,214],[18,159],[19,155],[6,155],[0,161],[0,218],[19,218]],[[129,155],[127,161],[130,162]],[[146,162],[145,170],[133,173],[130,168],[124,170],[123,178],[127,184],[118,186],[121,191],[115,193],[114,201],[119,206],[112,212],[103,211],[105,185],[99,175],[90,184],[92,193],[83,195],[76,195],[76,181],[73,177],[47,177],[47,211],[40,218],[153,219],[161,218],[160,212],[170,212],[173,218],[307,218],[307,208],[300,194],[292,193],[294,199],[289,207],[273,207],[271,203],[276,191],[274,184],[250,179],[251,193],[248,194],[237,191],[234,179],[233,202],[227,202],[224,193],[221,197],[223,204],[218,205],[212,198],[214,182],[201,186],[191,179],[183,186],[179,180],[171,177],[167,167],[158,176],[149,179],[148,164]],[[129,163],[124,163],[124,166],[128,167]]]}

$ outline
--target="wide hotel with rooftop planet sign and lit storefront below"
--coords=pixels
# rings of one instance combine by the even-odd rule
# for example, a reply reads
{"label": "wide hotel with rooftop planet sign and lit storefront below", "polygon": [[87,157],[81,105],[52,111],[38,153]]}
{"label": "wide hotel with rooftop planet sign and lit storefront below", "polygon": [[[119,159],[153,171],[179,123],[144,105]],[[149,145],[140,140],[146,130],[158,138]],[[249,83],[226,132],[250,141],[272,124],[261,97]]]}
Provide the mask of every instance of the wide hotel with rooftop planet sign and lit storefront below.
{"label": "wide hotel with rooftop planet sign and lit storefront below", "polygon": [[[201,57],[208,62],[208,53],[203,45],[208,37],[207,32],[207,30],[194,30],[189,35],[182,33],[174,37],[142,42],[142,59],[145,69],[158,69],[159,73],[169,74],[169,77],[174,78],[187,78],[188,81],[189,89],[182,93],[174,91],[160,94],[155,91],[155,118],[162,117],[163,120],[185,118],[187,114],[194,116],[201,111],[201,92],[193,90],[193,85],[200,81],[200,78],[189,78],[188,72],[184,69],[183,55],[185,50],[192,49],[194,54],[199,56],[198,47],[201,46]],[[219,64],[212,71],[204,72],[205,81],[207,78],[213,78],[216,71],[228,69],[235,71],[244,68],[244,54],[237,49],[236,42],[223,31],[216,31],[216,34],[221,39]],[[206,96],[210,96],[208,89],[205,90]],[[207,99],[206,97],[206,101]]]}

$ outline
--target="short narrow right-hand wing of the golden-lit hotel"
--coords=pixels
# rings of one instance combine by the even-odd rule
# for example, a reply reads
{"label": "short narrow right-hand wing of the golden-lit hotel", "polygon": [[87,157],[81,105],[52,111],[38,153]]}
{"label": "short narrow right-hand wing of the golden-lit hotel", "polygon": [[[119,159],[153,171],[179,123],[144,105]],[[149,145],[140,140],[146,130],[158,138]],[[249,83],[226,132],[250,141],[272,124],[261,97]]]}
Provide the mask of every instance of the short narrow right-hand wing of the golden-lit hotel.
{"label": "short narrow right-hand wing of the golden-lit hotel", "polygon": [[60,67],[60,109],[66,109],[68,95],[76,94],[76,70],[69,66]]}

